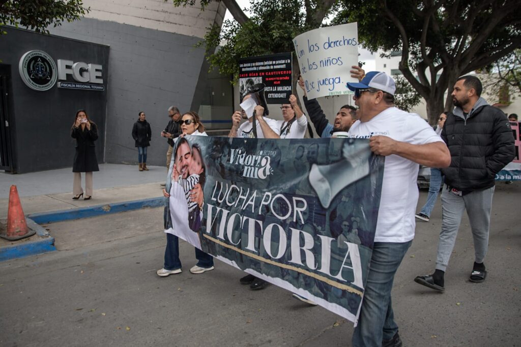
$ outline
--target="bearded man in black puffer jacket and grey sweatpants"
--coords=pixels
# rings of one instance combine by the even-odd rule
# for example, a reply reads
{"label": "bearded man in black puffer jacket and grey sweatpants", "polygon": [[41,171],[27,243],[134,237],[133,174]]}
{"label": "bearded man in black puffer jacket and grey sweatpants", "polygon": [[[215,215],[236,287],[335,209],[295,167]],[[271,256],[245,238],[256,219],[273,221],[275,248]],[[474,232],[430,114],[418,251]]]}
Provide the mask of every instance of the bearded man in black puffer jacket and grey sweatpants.
{"label": "bearded man in black puffer jacket and grey sweatpants", "polygon": [[474,238],[475,262],[471,282],[487,276],[483,260],[488,250],[490,210],[494,178],[514,159],[514,137],[506,115],[481,98],[476,76],[460,77],[454,84],[455,108],[447,114],[441,138],[451,152],[451,165],[442,169],[445,186],[441,195],[443,220],[436,271],[417,276],[415,282],[443,291],[445,269],[454,248],[464,210]]}

